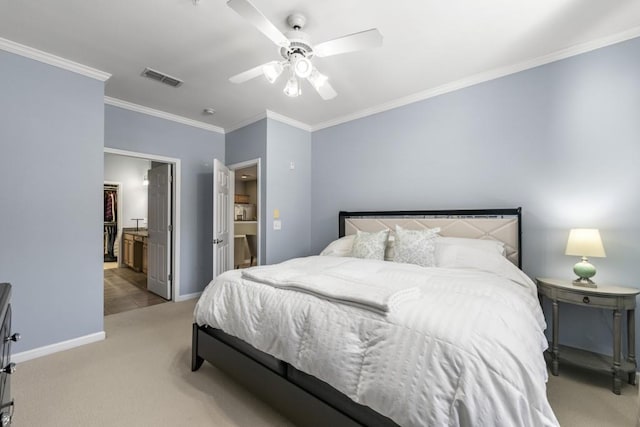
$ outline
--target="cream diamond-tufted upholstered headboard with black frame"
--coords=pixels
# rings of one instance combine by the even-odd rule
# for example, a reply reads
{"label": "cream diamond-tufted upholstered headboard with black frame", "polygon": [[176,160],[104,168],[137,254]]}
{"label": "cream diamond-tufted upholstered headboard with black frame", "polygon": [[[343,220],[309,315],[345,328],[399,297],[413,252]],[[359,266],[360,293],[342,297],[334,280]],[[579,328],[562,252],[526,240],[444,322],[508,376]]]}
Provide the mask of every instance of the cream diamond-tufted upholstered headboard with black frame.
{"label": "cream diamond-tufted upholstered headboard with black frame", "polygon": [[396,225],[420,230],[440,227],[440,235],[498,240],[505,244],[506,256],[522,266],[522,208],[462,209],[441,211],[340,212],[340,237],[361,231],[393,232]]}

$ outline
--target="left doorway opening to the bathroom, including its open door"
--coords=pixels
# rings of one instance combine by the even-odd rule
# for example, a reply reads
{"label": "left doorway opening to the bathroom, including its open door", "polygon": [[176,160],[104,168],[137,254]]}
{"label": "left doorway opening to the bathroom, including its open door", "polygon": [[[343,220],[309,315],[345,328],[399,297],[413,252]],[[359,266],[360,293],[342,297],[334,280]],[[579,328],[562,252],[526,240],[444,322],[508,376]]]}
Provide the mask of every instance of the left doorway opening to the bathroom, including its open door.
{"label": "left doorway opening to the bathroom, including its open door", "polygon": [[[117,268],[105,263],[104,315],[175,300],[180,160],[109,148],[104,153],[105,182],[117,180],[119,190],[117,234],[105,255],[115,258]],[[106,203],[105,212],[106,220]]]}

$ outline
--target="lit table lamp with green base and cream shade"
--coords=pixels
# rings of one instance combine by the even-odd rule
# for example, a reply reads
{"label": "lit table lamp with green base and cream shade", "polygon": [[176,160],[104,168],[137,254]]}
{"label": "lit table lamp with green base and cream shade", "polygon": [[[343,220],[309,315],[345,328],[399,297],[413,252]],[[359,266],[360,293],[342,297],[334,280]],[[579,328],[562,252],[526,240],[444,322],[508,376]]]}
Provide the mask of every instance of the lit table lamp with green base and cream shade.
{"label": "lit table lamp with green base and cream shade", "polygon": [[573,272],[578,278],[573,281],[576,286],[585,286],[587,288],[597,288],[596,284],[591,280],[596,274],[596,268],[589,263],[588,256],[605,258],[607,255],[602,246],[600,232],[595,228],[574,228],[569,232],[569,240],[567,240],[567,249],[565,255],[576,255],[582,257],[582,260],[573,266]]}

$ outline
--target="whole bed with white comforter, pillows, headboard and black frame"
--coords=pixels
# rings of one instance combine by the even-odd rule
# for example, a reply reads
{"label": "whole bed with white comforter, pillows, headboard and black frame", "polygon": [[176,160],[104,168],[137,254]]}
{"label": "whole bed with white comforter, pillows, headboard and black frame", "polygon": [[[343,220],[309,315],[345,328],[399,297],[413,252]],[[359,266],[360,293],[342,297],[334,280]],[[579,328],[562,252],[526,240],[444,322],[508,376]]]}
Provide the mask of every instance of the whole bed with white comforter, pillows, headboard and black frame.
{"label": "whole bed with white comforter, pillows, headboard and black frame", "polygon": [[207,286],[192,370],[298,425],[557,425],[521,260],[520,208],[340,212],[321,255]]}

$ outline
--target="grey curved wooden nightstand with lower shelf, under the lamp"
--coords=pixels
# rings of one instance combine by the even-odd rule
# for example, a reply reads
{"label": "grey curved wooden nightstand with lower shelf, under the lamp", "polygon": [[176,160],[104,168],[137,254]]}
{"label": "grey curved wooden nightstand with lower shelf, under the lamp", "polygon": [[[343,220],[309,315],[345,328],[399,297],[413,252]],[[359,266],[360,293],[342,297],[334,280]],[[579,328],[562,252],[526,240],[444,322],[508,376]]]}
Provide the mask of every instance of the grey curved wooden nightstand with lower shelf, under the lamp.
{"label": "grey curved wooden nightstand with lower shelf, under the lamp", "polygon": [[[629,384],[635,384],[636,378],[636,344],[635,344],[635,308],[636,295],[640,289],[621,286],[603,286],[586,288],[574,285],[570,280],[536,278],[538,296],[546,296],[552,302],[552,343],[551,373],[558,375],[560,360],[580,366],[605,370],[613,373],[613,392],[620,394],[621,375],[628,375]],[[608,357],[585,350],[560,346],[558,344],[558,302],[580,305],[583,307],[604,308],[613,310],[613,357]],[[627,358],[621,360],[622,328],[620,325],[622,311],[627,311]]]}

